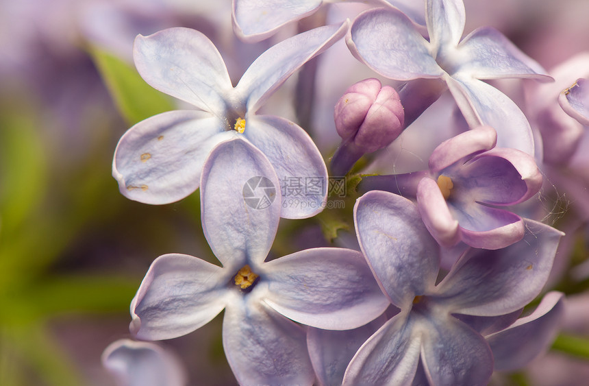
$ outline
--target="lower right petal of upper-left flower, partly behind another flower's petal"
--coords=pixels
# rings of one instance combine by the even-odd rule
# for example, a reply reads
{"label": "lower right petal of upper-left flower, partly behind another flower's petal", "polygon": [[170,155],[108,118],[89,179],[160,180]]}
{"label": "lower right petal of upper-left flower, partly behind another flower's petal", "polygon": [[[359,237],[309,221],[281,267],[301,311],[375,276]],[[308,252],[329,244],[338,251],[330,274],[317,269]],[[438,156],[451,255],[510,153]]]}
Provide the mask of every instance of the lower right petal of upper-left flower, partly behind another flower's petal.
{"label": "lower right petal of upper-left flower, partly behind another flower's petal", "polygon": [[[312,217],[325,208],[327,201],[327,167],[313,140],[287,119],[272,115],[248,115],[245,137],[270,160],[284,187],[292,178],[301,182],[301,192],[283,189],[281,217]],[[301,193],[301,194],[298,194]]]}

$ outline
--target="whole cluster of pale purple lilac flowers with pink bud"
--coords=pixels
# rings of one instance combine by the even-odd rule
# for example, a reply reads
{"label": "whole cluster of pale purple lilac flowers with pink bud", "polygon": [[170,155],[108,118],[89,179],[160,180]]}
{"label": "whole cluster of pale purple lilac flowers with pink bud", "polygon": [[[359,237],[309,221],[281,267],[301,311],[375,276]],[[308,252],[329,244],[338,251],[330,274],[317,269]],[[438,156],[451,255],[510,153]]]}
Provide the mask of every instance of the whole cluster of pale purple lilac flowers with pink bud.
{"label": "whole cluster of pale purple lilac flowers with pink bud", "polygon": [[[582,154],[555,146],[586,135],[571,141],[571,130],[547,127],[542,115],[558,110],[575,128],[588,125],[587,74],[527,107],[497,81],[546,87],[557,75],[497,29],[462,38],[462,0],[374,1],[334,24],[326,23],[327,3],[234,0],[234,31],[248,45],[313,14],[305,19],[313,25],[264,46],[234,83],[195,29],[136,38],[141,77],[189,106],[131,127],[113,176],[123,195],[145,204],[198,189],[203,233],[220,265],[186,254],[156,258],[131,302],[131,334],[181,337],[224,311],[223,350],[243,385],[485,385],[495,370],[527,365],[553,341],[564,298],[544,292],[564,234],[542,222],[534,197],[551,173],[574,186],[579,168],[568,162]],[[289,78],[313,82],[305,71],[338,40],[374,73],[345,85],[333,128],[314,129],[341,137],[337,149],[320,150],[299,108],[314,101]],[[279,95],[289,91],[295,114],[272,102],[291,103]],[[424,123],[434,103],[450,113]],[[427,165],[379,169],[414,132],[433,149]],[[327,205],[338,195],[347,208]],[[292,197],[299,205],[288,205]],[[296,240],[299,250],[277,257],[281,218],[312,232],[321,224],[325,245]],[[353,225],[355,237],[340,223]],[[535,300],[535,311],[523,312]],[[132,367],[125,376],[145,376],[124,358]]]}

